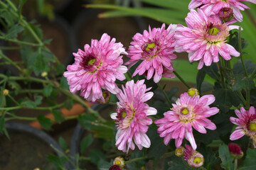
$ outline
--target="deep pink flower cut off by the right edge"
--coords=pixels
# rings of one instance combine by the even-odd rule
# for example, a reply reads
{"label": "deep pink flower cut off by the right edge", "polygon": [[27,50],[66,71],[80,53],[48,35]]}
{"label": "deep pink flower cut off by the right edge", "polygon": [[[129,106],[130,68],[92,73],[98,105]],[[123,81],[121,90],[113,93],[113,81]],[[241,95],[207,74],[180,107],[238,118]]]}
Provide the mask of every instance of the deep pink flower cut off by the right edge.
{"label": "deep pink flower cut off by the right edge", "polygon": [[250,107],[249,111],[241,107],[241,111],[235,110],[235,114],[238,118],[230,117],[230,122],[238,125],[235,131],[230,135],[230,140],[238,140],[240,137],[247,135],[256,147],[256,111],[253,106]]}

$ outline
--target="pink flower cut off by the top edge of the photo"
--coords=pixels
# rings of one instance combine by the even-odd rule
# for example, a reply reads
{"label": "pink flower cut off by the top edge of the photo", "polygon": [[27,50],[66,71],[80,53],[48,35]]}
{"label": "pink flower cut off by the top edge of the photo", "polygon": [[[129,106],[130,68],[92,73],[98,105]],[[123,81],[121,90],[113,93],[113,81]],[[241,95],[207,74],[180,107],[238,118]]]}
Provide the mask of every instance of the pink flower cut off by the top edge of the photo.
{"label": "pink flower cut off by the top edge of the photo", "polygon": [[240,1],[249,1],[256,4],[256,0],[192,0],[188,5],[188,9],[198,8],[200,6],[207,16],[218,14],[221,8],[232,8],[233,16],[237,21],[242,21],[242,13],[245,8],[249,8]]}

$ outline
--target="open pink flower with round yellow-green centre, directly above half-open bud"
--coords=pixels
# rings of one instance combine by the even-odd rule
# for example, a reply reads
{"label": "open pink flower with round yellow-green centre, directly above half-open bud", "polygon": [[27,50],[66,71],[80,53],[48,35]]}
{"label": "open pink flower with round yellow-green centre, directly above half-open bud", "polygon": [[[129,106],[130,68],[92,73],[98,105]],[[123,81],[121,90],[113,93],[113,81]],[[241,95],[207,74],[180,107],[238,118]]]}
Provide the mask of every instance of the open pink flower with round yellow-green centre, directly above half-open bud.
{"label": "open pink flower with round yellow-green centre, directly above half-open bud", "polygon": [[174,108],[164,113],[164,118],[155,120],[159,126],[160,137],[164,137],[164,144],[168,145],[171,139],[175,139],[176,147],[181,147],[185,137],[196,149],[196,142],[193,137],[193,128],[198,132],[206,133],[206,128],[215,130],[216,126],[207,118],[219,112],[218,108],[210,108],[209,105],[215,101],[213,95],[188,96],[187,93],[181,94]]}

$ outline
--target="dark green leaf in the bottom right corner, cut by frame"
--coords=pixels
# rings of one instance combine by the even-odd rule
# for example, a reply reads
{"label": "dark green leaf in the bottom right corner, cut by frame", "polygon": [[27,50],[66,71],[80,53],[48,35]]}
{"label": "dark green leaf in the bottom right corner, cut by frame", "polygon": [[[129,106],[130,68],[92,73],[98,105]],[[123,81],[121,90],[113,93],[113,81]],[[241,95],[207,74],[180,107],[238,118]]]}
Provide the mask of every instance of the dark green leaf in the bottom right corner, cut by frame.
{"label": "dark green leaf in the bottom right corner, cut by frame", "polygon": [[256,150],[255,149],[247,149],[245,160],[243,160],[239,170],[251,170],[256,167]]}

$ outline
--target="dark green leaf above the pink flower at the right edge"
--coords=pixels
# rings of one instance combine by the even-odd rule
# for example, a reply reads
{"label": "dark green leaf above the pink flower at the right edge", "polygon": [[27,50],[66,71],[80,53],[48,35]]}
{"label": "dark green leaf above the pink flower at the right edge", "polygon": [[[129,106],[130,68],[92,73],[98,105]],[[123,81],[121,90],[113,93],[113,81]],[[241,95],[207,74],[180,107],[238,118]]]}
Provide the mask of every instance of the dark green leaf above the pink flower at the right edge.
{"label": "dark green leaf above the pink flower at the right edge", "polygon": [[232,78],[233,91],[241,91],[242,89],[250,90],[255,88],[255,82],[250,77],[244,77],[240,75],[235,75]]}

